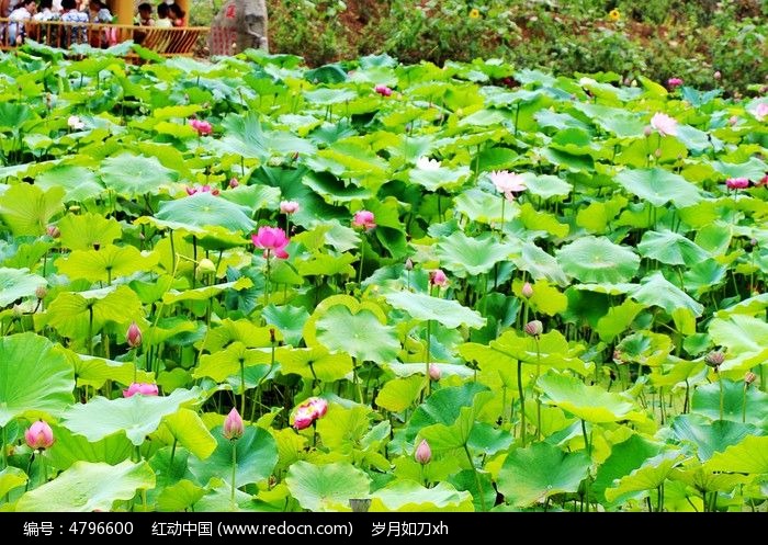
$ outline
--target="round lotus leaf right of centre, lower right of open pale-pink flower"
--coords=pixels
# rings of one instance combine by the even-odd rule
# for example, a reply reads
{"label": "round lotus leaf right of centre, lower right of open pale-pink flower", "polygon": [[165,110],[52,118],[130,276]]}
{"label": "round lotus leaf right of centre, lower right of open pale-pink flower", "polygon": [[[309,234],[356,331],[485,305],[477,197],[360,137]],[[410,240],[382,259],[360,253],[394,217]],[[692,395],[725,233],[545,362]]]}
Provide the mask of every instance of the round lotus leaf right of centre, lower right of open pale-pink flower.
{"label": "round lotus leaf right of centre, lower right of open pale-pink flower", "polygon": [[640,268],[640,257],[605,237],[583,237],[557,251],[566,274],[581,282],[617,284],[630,281]]}

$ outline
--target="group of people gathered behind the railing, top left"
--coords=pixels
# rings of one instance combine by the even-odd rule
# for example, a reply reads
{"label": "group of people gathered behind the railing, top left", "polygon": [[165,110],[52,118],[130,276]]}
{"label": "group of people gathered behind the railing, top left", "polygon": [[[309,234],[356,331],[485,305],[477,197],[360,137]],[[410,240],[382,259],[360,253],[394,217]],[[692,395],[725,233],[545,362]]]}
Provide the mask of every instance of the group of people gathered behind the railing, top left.
{"label": "group of people gathered behind the railing, top left", "polygon": [[[134,23],[140,26],[156,26],[170,29],[185,25],[185,13],[173,0],[163,0],[155,9],[150,3],[142,3],[138,7],[138,15]],[[0,16],[9,20],[7,25],[0,25],[0,37],[5,38],[8,45],[21,45],[27,31],[35,22],[61,21],[64,23],[116,23],[112,12],[103,0],[0,0]],[[67,46],[71,43],[88,41],[86,27],[68,31]],[[8,33],[7,36],[2,36]],[[116,32],[104,30],[100,44],[112,45],[116,39]]]}

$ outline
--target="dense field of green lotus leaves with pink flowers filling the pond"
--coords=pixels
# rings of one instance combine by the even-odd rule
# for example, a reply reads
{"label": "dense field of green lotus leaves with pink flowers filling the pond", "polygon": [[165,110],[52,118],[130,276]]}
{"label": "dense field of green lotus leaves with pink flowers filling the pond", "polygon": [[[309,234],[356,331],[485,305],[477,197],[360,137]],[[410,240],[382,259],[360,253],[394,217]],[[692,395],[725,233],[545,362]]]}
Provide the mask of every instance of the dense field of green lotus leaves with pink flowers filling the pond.
{"label": "dense field of green lotus leaves with pink flowers filling the pond", "polygon": [[765,511],[768,99],[615,81],[0,57],[0,509]]}

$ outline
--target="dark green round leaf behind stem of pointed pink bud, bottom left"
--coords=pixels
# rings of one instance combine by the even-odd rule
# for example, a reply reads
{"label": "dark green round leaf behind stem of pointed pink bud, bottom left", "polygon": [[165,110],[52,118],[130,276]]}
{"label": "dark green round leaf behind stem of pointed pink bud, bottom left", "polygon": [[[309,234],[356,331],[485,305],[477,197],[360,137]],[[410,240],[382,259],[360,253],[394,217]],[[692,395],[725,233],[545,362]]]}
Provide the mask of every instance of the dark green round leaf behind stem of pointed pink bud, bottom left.
{"label": "dark green round leaf behind stem of pointed pink bud, bottom left", "polygon": [[235,461],[235,486],[241,487],[251,482],[261,482],[272,475],[278,463],[278,444],[270,433],[255,425],[247,425],[245,433],[237,441],[225,439],[222,427],[211,430],[218,443],[216,450],[201,461],[190,458],[190,472],[203,485],[218,477],[231,484],[231,451],[237,451]]}

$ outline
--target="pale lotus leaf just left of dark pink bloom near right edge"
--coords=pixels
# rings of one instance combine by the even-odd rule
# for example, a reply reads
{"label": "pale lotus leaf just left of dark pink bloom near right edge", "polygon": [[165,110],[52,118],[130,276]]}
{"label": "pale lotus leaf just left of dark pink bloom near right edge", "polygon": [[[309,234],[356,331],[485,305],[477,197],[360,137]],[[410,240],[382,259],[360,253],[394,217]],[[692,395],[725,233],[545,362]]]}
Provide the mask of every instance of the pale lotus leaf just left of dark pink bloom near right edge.
{"label": "pale lotus leaf just left of dark pink bloom near right edge", "polygon": [[660,168],[622,170],[617,174],[615,181],[631,194],[654,206],[673,203],[678,208],[685,208],[701,201],[696,185],[688,183],[681,175]]}

